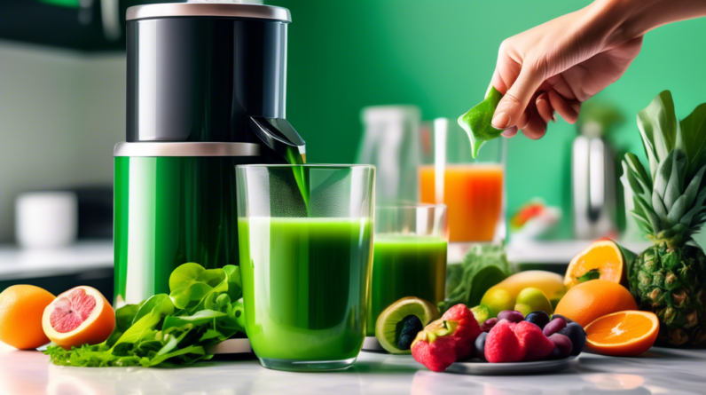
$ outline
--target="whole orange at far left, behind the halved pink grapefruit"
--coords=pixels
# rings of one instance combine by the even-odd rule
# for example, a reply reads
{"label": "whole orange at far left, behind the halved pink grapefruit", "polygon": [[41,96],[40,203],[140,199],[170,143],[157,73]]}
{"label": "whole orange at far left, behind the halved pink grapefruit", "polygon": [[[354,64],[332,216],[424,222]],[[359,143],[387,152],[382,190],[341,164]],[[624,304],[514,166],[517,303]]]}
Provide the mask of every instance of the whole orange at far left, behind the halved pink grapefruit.
{"label": "whole orange at far left, behind the halved pink grapefruit", "polygon": [[34,285],[13,285],[0,293],[0,342],[20,350],[49,343],[42,329],[44,308],[54,296]]}

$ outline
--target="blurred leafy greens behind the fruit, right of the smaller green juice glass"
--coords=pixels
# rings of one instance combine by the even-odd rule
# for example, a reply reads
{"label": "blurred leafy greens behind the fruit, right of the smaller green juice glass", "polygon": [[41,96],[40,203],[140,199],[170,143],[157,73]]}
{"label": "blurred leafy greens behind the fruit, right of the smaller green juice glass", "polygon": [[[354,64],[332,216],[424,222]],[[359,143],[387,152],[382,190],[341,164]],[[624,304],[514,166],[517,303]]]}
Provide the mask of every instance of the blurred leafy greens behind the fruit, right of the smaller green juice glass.
{"label": "blurred leafy greens behind the fruit, right of the smaller green juice glass", "polygon": [[468,308],[481,304],[485,291],[512,273],[503,246],[473,246],[463,262],[447,266],[446,300],[439,305],[439,310],[445,311],[456,304],[466,304]]}

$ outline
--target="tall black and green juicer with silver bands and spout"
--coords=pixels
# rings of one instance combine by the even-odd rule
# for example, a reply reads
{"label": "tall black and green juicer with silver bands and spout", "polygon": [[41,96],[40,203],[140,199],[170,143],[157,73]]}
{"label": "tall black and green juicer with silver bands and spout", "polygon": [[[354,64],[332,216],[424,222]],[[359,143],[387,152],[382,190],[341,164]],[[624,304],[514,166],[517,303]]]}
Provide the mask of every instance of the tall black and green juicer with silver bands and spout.
{"label": "tall black and green juicer with silver bands and spout", "polygon": [[305,162],[286,121],[285,8],[127,12],[127,136],[114,148],[114,305],[169,293],[195,262],[238,265],[235,166]]}

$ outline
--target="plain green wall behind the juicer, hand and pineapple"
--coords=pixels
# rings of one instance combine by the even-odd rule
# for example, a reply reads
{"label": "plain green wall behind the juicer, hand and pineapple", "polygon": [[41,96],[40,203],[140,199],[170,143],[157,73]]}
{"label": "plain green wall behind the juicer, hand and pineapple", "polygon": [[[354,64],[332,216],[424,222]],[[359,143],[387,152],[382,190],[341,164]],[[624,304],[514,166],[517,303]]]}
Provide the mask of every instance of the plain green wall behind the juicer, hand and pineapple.
{"label": "plain green wall behind the juicer, hand and pineapple", "polygon": [[[310,162],[352,162],[361,107],[415,104],[426,120],[455,118],[482,99],[498,46],[587,1],[273,0],[291,10],[287,118],[307,141]],[[603,91],[626,122],[619,146],[639,152],[635,114],[664,89],[686,116],[706,101],[706,19],[647,34],[626,75]],[[570,234],[570,144],[573,125],[558,120],[545,138],[508,144],[507,202],[512,213],[541,196],[564,210]]]}

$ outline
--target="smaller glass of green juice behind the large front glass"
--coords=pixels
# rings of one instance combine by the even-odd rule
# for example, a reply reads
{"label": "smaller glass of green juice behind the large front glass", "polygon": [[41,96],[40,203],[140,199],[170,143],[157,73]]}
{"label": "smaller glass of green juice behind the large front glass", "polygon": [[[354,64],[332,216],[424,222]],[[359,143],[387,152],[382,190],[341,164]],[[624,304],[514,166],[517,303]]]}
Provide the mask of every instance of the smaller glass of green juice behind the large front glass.
{"label": "smaller glass of green juice behind the large front glass", "polygon": [[366,351],[383,350],[374,337],[375,323],[390,304],[407,296],[432,304],[443,301],[448,247],[446,206],[380,204],[375,209],[374,233]]}

